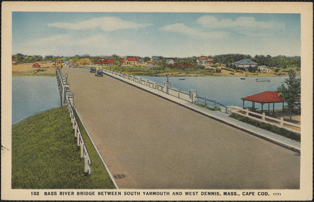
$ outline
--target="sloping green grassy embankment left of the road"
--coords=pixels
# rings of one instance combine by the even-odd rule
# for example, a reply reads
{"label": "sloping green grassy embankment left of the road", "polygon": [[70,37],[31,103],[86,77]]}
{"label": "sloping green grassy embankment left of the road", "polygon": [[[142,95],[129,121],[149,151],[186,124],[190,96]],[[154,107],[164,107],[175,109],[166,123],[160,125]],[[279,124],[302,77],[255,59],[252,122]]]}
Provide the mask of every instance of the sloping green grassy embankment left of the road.
{"label": "sloping green grassy embankment left of the road", "polygon": [[115,189],[78,124],[91,157],[91,175],[84,173],[68,109],[58,107],[12,126],[12,189]]}

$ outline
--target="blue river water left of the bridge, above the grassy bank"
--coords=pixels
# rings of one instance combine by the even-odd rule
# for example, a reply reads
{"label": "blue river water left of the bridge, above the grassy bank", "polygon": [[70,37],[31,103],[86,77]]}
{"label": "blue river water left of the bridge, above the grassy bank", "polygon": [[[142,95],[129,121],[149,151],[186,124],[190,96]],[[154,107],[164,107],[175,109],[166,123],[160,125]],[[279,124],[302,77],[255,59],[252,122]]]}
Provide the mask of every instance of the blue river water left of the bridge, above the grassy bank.
{"label": "blue river water left of the bridge, above the grassy bank", "polygon": [[12,77],[12,124],[60,105],[56,77]]}

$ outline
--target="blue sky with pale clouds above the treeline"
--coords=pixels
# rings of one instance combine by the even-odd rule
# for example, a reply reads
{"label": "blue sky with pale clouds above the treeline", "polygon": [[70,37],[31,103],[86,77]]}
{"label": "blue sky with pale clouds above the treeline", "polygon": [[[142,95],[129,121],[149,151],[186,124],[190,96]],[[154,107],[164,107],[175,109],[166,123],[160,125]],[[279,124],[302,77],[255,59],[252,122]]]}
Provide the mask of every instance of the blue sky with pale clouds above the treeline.
{"label": "blue sky with pale clouds above the treeline", "polygon": [[13,12],[12,54],[301,55],[300,14]]}

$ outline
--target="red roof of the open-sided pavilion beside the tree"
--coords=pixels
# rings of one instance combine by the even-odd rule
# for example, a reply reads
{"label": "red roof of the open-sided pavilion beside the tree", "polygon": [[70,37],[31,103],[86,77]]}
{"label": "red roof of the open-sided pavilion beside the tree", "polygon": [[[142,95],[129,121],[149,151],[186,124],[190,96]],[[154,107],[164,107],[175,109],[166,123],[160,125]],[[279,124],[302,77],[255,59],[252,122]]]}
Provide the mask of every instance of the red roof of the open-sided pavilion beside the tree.
{"label": "red roof of the open-sided pavilion beside the tree", "polygon": [[[241,99],[252,101],[252,102],[258,102],[258,103],[284,102],[283,100],[279,98],[279,93],[277,93],[276,91],[265,91],[265,92],[250,95]],[[297,101],[300,101],[300,100],[301,98],[299,98]]]}

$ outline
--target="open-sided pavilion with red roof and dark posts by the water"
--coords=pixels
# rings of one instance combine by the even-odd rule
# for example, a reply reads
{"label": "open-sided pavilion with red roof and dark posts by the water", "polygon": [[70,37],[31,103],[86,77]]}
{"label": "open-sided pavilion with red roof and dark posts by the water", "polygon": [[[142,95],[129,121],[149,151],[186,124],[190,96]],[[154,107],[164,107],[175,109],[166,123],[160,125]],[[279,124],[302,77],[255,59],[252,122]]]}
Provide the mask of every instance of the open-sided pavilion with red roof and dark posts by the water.
{"label": "open-sided pavilion with red roof and dark posts by the water", "polygon": [[[255,108],[255,103],[260,103],[262,104],[262,113],[263,113],[263,105],[265,103],[268,103],[268,111],[269,111],[269,104],[273,103],[273,113],[275,112],[275,103],[282,103],[282,110],[284,110],[284,100],[281,100],[279,97],[279,93],[276,91],[265,91],[262,93],[257,93],[255,95],[250,95],[245,98],[241,98],[243,100],[243,109],[244,109],[244,101],[251,101],[252,102],[252,109]],[[297,100],[300,102],[300,98]]]}

